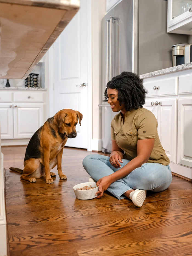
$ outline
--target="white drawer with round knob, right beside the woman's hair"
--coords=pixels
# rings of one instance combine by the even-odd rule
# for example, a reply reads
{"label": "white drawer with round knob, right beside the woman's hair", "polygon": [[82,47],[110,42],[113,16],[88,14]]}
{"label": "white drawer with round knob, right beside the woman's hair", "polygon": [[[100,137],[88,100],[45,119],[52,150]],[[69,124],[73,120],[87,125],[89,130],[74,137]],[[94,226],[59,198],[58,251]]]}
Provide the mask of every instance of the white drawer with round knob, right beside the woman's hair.
{"label": "white drawer with round knob, right beside the woman's hair", "polygon": [[[163,96],[163,95],[178,95],[178,77],[143,83],[143,86],[148,90],[146,97]],[[155,86],[155,87],[154,87]],[[158,89],[157,89],[158,88]]]}

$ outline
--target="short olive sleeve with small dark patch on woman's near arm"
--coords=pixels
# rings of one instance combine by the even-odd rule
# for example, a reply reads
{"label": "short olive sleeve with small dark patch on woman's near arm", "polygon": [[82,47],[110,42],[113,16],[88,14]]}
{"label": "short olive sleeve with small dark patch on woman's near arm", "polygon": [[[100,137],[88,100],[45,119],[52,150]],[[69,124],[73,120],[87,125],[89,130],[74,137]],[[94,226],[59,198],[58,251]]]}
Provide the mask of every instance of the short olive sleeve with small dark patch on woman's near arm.
{"label": "short olive sleeve with small dark patch on woman's near arm", "polygon": [[143,113],[137,120],[138,140],[155,139],[157,126],[157,119],[153,113]]}

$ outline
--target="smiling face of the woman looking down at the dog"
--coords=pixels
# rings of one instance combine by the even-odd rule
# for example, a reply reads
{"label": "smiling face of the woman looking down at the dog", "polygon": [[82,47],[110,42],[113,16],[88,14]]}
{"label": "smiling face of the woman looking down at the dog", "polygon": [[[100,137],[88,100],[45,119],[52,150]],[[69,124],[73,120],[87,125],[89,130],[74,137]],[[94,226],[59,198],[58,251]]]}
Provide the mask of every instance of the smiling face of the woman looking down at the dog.
{"label": "smiling face of the woman looking down at the dog", "polygon": [[118,99],[118,91],[116,89],[107,89],[107,95],[108,95],[108,103],[111,106],[111,109],[113,112],[119,112],[121,110],[125,110],[125,105],[122,104],[120,106]]}

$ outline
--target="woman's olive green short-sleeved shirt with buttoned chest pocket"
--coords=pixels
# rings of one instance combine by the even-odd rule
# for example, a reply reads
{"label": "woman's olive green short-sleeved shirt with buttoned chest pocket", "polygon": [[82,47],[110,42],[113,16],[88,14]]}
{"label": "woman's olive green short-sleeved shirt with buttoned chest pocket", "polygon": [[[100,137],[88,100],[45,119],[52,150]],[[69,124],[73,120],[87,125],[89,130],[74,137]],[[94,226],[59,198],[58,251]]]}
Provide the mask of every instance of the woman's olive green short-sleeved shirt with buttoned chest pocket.
{"label": "woman's olive green short-sleeved shirt with buttoned chest pocket", "polygon": [[168,165],[170,163],[157,133],[157,119],[146,108],[133,109],[117,114],[111,122],[111,139],[116,140],[118,147],[125,151],[124,158],[132,160],[137,156],[137,140],[155,139],[155,144],[148,163]]}

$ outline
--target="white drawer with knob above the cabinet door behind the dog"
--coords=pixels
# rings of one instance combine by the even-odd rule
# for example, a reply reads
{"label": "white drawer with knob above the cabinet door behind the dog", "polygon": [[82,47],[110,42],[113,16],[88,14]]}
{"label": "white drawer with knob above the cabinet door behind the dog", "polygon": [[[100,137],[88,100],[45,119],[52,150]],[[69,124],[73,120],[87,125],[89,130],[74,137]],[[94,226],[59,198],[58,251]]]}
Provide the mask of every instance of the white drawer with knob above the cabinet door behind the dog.
{"label": "white drawer with knob above the cabinet door behind the dog", "polygon": [[44,92],[14,92],[14,102],[44,102]]}

